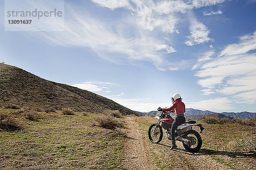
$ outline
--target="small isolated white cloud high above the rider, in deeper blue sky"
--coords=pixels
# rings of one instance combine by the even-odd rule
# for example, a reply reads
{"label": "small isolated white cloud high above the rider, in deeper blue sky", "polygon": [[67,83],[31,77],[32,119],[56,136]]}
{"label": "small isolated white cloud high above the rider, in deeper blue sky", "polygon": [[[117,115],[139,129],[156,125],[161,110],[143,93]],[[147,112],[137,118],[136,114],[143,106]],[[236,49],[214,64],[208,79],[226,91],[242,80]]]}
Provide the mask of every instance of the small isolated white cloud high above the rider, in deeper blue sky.
{"label": "small isolated white cloud high above the rider, in deeper blue sky", "polygon": [[213,40],[212,38],[208,37],[210,31],[203,23],[198,22],[195,18],[191,18],[190,23],[190,36],[188,36],[189,40],[184,42],[186,45],[192,46]]}

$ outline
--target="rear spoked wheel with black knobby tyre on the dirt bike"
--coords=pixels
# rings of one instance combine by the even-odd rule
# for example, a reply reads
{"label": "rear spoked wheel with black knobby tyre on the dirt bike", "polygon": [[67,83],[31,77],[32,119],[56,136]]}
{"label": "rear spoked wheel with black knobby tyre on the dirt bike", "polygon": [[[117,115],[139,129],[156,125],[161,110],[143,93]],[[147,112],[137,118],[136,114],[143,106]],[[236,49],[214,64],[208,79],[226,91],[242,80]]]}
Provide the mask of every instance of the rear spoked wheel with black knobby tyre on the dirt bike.
{"label": "rear spoked wheel with black knobby tyre on the dirt bike", "polygon": [[190,140],[191,142],[182,142],[183,147],[189,152],[195,153],[201,149],[202,146],[202,139],[200,134],[195,130],[187,131],[183,138]]}

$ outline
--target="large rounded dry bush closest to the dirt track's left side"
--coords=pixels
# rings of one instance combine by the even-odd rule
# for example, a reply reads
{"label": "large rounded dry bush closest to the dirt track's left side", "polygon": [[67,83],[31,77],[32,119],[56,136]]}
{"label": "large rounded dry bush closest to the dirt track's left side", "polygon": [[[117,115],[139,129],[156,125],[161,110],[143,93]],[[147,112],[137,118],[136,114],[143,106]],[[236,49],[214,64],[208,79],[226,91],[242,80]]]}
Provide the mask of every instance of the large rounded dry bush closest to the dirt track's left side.
{"label": "large rounded dry bush closest to the dirt track's left side", "polygon": [[124,127],[124,122],[112,116],[99,115],[94,118],[94,125],[104,127],[106,129],[115,129],[116,127]]}

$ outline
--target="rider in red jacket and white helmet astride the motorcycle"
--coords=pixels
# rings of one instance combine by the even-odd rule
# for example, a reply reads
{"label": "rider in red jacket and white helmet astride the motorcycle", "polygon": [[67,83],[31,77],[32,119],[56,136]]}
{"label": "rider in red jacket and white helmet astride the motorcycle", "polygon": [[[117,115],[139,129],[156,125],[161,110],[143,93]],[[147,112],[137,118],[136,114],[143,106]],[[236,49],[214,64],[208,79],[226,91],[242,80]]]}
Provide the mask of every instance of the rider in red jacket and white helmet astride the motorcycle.
{"label": "rider in red jacket and white helmet astride the motorcycle", "polygon": [[175,143],[175,130],[176,128],[185,123],[186,119],[184,116],[184,113],[186,112],[185,110],[185,104],[181,101],[180,94],[174,94],[172,96],[172,103],[173,105],[170,108],[158,108],[158,111],[175,111],[175,121],[172,123],[172,128],[171,128],[171,137],[172,137],[172,147],[171,149],[177,148],[177,145]]}

